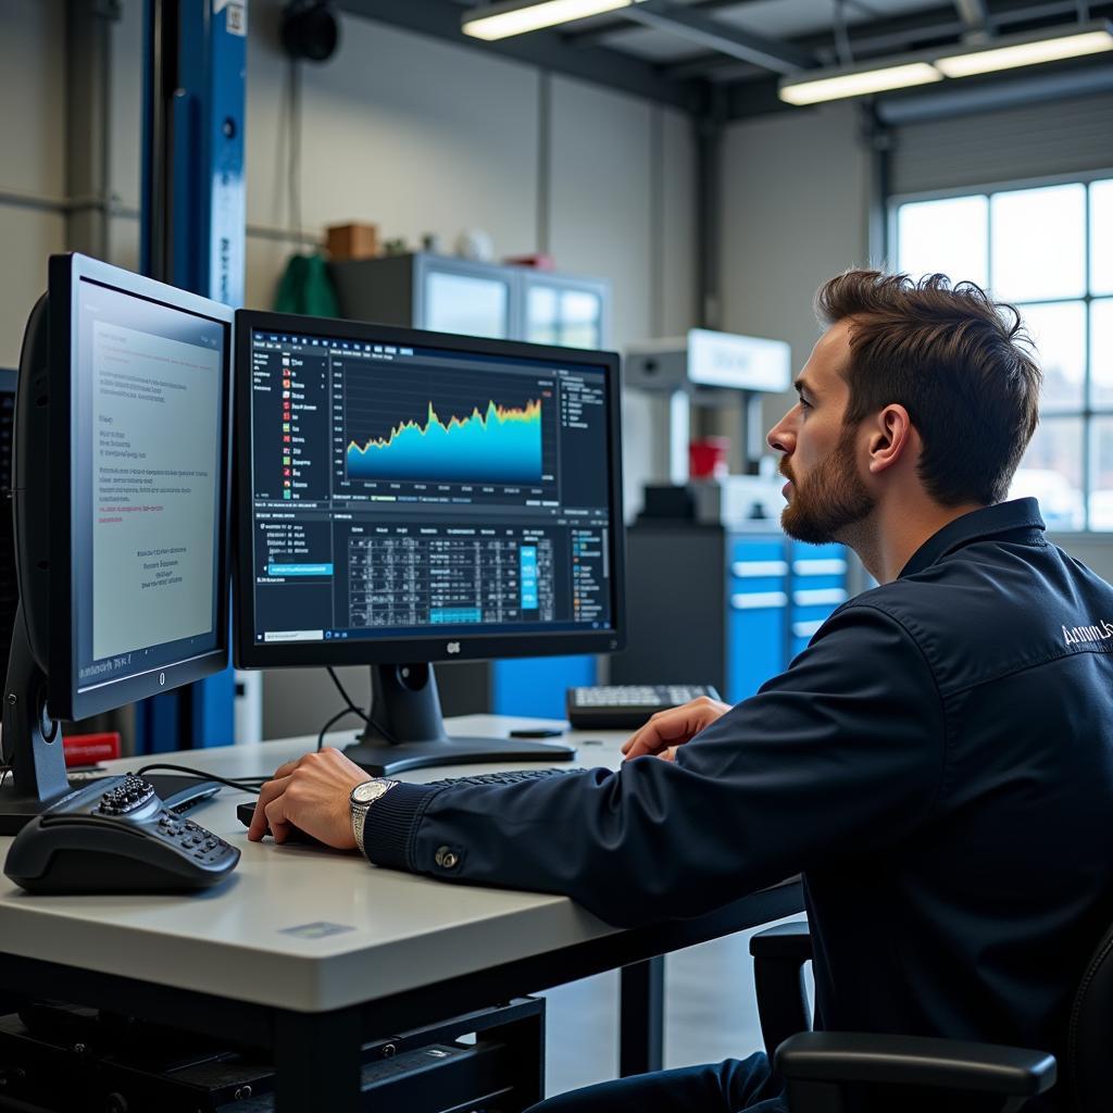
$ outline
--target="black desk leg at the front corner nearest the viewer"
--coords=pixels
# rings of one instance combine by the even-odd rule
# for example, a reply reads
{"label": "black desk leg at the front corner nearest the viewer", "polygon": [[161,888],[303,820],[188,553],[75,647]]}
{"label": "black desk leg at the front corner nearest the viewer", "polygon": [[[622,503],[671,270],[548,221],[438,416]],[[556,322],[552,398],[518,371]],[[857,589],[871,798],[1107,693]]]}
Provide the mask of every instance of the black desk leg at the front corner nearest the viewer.
{"label": "black desk leg at the front corner nearest the viewer", "polygon": [[277,1113],[356,1113],[363,1033],[358,1008],[275,1014]]}

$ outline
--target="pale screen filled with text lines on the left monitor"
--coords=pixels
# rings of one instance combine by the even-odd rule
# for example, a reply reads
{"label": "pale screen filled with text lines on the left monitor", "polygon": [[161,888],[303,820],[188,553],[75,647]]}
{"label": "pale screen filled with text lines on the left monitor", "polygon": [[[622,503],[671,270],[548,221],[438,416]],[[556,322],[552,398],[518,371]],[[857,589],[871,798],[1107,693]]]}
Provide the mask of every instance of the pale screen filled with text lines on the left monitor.
{"label": "pale screen filled with text lines on the left monitor", "polygon": [[217,646],[225,326],[82,278],[72,414],[78,691]]}

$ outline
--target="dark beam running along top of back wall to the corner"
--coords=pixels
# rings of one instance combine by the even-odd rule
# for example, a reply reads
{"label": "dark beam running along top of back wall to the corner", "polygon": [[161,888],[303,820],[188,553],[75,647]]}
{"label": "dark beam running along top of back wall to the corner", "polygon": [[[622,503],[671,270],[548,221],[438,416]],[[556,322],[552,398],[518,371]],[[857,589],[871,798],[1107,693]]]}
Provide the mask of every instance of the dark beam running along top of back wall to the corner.
{"label": "dark beam running along top of back wall to the corner", "polygon": [[460,17],[467,9],[453,0],[405,0],[404,3],[398,0],[337,0],[337,7],[352,16],[580,78],[693,115],[705,111],[706,82],[670,80],[659,67],[619,50],[573,48],[556,31],[533,31],[499,42],[484,42],[464,35]]}

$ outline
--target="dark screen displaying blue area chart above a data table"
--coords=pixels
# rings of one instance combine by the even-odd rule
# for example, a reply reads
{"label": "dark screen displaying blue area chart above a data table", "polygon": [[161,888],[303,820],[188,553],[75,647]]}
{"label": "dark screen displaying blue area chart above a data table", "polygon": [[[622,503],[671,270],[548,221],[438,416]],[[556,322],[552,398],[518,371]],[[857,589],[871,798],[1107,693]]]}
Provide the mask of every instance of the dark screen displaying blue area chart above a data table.
{"label": "dark screen displaying blue area chart above a data table", "polygon": [[611,624],[603,367],[255,332],[255,638]]}

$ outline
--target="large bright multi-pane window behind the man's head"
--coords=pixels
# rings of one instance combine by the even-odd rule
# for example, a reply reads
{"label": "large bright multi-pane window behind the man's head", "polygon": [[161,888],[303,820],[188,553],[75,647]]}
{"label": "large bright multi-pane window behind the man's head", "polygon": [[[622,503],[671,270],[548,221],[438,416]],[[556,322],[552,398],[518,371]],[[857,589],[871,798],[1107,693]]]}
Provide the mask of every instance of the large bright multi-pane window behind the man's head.
{"label": "large bright multi-pane window behind the man's head", "polygon": [[1040,426],[1011,496],[1048,529],[1113,531],[1113,178],[902,198],[890,221],[898,269],[976,282],[1035,342]]}

